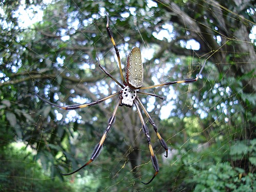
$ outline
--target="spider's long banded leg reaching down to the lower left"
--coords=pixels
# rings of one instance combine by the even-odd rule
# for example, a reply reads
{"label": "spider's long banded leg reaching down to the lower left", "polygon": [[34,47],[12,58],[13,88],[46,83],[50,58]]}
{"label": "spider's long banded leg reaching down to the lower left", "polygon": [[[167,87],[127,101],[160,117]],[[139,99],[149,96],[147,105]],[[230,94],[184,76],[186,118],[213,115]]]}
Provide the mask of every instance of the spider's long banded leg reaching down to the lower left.
{"label": "spider's long banded leg reaching down to the lower left", "polygon": [[103,142],[105,141],[105,138],[106,138],[106,134],[108,134],[108,132],[111,129],[112,124],[115,122],[116,111],[117,111],[117,108],[120,104],[120,101],[121,101],[121,98],[119,97],[118,100],[117,100],[117,104],[115,106],[115,109],[113,111],[113,114],[109,119],[109,125],[108,125],[108,127],[106,127],[106,130],[104,131],[104,133],[103,133],[103,135],[100,139],[100,142],[95,146],[91,159],[86,164],[82,165],[80,168],[74,170],[74,172],[71,172],[71,173],[68,173],[68,174],[61,174],[61,175],[64,175],[64,176],[72,175],[72,174],[78,172],[79,170],[81,170],[83,167],[89,165],[91,162],[93,162],[99,156],[99,154],[102,150]]}

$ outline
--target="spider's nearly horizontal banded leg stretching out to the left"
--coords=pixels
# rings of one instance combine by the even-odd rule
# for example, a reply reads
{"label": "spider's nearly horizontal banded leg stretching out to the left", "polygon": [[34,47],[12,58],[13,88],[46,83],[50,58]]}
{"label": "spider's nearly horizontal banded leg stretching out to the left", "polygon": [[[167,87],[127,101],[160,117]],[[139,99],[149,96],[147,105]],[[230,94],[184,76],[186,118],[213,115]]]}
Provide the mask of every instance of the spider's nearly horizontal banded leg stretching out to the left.
{"label": "spider's nearly horizontal banded leg stretching out to the left", "polygon": [[98,100],[93,101],[93,102],[91,102],[91,103],[75,104],[75,105],[68,105],[68,106],[60,106],[60,105],[54,104],[54,103],[52,103],[52,102],[50,102],[50,101],[47,101],[47,100],[43,99],[42,97],[40,97],[39,95],[37,95],[37,93],[36,93],[36,96],[37,96],[39,99],[45,101],[46,103],[49,103],[49,104],[51,104],[51,105],[53,105],[53,106],[57,106],[57,108],[60,108],[60,109],[63,109],[63,110],[75,110],[75,109],[86,108],[87,106],[91,106],[91,105],[95,105],[95,104],[101,103],[101,102],[103,102],[103,101],[105,101],[105,100],[107,100],[107,99],[110,99],[110,98],[112,98],[112,97],[114,97],[114,96],[116,96],[116,95],[120,95],[121,93],[122,93],[122,92],[119,91],[119,92],[117,92],[117,93],[114,93],[114,94],[112,94],[112,95],[109,95],[108,97],[105,97],[105,98],[102,98],[102,99],[98,99]]}

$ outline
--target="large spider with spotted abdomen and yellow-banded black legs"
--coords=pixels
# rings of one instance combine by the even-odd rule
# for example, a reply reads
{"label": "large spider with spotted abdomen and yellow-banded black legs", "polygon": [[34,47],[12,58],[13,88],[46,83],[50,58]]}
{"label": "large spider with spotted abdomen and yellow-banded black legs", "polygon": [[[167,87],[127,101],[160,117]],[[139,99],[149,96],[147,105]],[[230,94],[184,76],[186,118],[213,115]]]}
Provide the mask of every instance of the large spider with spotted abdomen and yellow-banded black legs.
{"label": "large spider with spotted abdomen and yellow-banded black legs", "polygon": [[153,151],[153,147],[152,147],[152,144],[151,144],[151,137],[150,137],[148,128],[147,128],[146,123],[145,123],[145,121],[144,121],[144,119],[142,117],[142,113],[141,113],[141,110],[140,110],[139,106],[144,111],[144,113],[147,116],[149,122],[153,126],[154,131],[156,132],[156,135],[157,135],[157,137],[158,137],[162,147],[166,151],[165,157],[168,156],[168,146],[167,146],[166,142],[164,141],[164,139],[158,133],[157,126],[156,126],[155,122],[151,118],[150,114],[148,114],[148,112],[146,111],[146,109],[144,108],[142,102],[140,101],[139,97],[136,94],[138,93],[138,94],[150,95],[150,96],[154,96],[154,97],[158,97],[160,99],[163,99],[163,97],[160,97],[158,95],[155,95],[155,94],[152,94],[152,93],[140,92],[138,90],[152,89],[152,88],[168,86],[169,84],[176,84],[176,83],[191,83],[191,82],[195,82],[195,81],[198,80],[200,74],[202,73],[202,70],[203,70],[203,68],[205,66],[206,60],[203,63],[203,66],[202,66],[199,74],[194,79],[170,81],[170,82],[165,82],[165,83],[157,84],[155,86],[142,87],[142,84],[143,84],[143,65],[142,65],[142,60],[141,60],[141,52],[140,52],[139,48],[134,47],[132,49],[132,51],[129,53],[128,57],[127,57],[127,62],[126,62],[126,67],[125,67],[125,79],[126,79],[126,81],[125,81],[125,79],[123,77],[123,73],[122,73],[121,59],[120,59],[120,56],[119,56],[119,51],[118,51],[118,48],[116,46],[112,30],[109,27],[109,14],[108,13],[106,13],[106,18],[107,18],[106,31],[108,32],[109,37],[110,37],[110,39],[112,41],[112,44],[113,44],[113,46],[115,48],[115,51],[116,51],[116,56],[117,56],[117,59],[118,59],[120,75],[121,75],[121,79],[122,79],[123,84],[121,84],[117,79],[115,79],[110,73],[108,73],[100,65],[99,58],[97,56],[98,66],[106,75],[108,75],[111,79],[113,79],[122,88],[122,90],[119,91],[119,92],[116,92],[116,93],[114,93],[112,95],[109,95],[109,96],[107,96],[105,98],[98,99],[98,100],[96,100],[94,102],[91,102],[91,103],[84,103],[84,104],[77,104],[77,105],[68,105],[68,106],[59,106],[57,104],[51,103],[51,102],[43,99],[42,97],[38,96],[37,94],[36,95],[41,100],[43,100],[43,101],[45,101],[45,102],[47,102],[47,103],[49,103],[49,104],[51,104],[53,106],[56,106],[56,107],[58,107],[60,109],[63,109],[63,110],[75,110],[75,109],[80,109],[80,108],[86,108],[87,106],[92,106],[92,105],[99,104],[99,103],[101,103],[101,102],[103,102],[103,101],[105,101],[107,99],[110,99],[110,98],[112,98],[114,96],[119,95],[117,103],[116,103],[114,111],[113,111],[113,114],[112,114],[112,116],[109,119],[108,127],[106,127],[106,129],[105,129],[105,131],[104,131],[104,133],[103,133],[99,143],[95,146],[90,160],[86,164],[82,165],[80,168],[74,170],[73,172],[68,173],[68,174],[62,174],[63,176],[72,175],[72,174],[78,172],[80,169],[82,169],[83,167],[89,165],[91,162],[93,162],[99,156],[99,154],[100,154],[100,152],[102,150],[103,142],[104,142],[104,140],[106,138],[106,135],[108,134],[108,132],[111,129],[111,126],[115,122],[115,116],[116,116],[116,112],[117,112],[118,106],[123,106],[124,105],[124,106],[128,106],[129,108],[131,108],[133,105],[135,105],[136,109],[138,111],[138,115],[139,115],[140,121],[141,121],[142,131],[143,131],[143,133],[146,136],[147,144],[148,144],[148,147],[150,149],[151,161],[152,161],[153,167],[155,169],[155,174],[153,175],[151,180],[148,181],[147,183],[142,182],[143,184],[149,184],[149,183],[151,183],[153,181],[153,179],[158,174],[158,172],[159,172],[159,165],[158,165],[157,157],[155,156],[154,151]]}

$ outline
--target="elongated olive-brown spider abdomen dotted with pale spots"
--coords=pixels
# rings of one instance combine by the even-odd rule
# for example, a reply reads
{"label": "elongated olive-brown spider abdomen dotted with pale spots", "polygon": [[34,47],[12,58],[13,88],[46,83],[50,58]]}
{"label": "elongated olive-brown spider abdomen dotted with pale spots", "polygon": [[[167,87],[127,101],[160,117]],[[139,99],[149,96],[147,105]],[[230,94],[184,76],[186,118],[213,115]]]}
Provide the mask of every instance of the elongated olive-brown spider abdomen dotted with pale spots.
{"label": "elongated olive-brown spider abdomen dotted with pale spots", "polygon": [[143,84],[143,65],[140,49],[137,47],[133,48],[127,57],[125,77],[130,88],[141,88]]}

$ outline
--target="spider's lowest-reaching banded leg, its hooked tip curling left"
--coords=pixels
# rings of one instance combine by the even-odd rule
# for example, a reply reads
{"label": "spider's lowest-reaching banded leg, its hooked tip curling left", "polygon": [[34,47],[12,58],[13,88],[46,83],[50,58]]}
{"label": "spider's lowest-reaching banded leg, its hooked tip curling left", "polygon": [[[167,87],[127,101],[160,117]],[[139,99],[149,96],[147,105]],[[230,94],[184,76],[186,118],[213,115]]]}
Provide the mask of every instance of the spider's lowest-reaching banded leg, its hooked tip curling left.
{"label": "spider's lowest-reaching banded leg, its hooked tip curling left", "polygon": [[150,181],[148,181],[147,183],[142,182],[143,184],[147,185],[147,184],[151,183],[151,181],[153,181],[153,179],[154,179],[154,178],[156,177],[156,175],[158,174],[158,172],[159,172],[159,165],[158,165],[157,157],[155,156],[154,151],[153,151],[153,148],[152,148],[152,145],[151,145],[150,133],[149,133],[149,131],[148,131],[148,128],[147,128],[147,126],[146,126],[146,123],[144,122],[144,119],[143,119],[143,117],[142,117],[141,111],[140,111],[140,109],[139,109],[139,106],[138,106],[138,103],[137,103],[136,100],[134,100],[134,104],[135,104],[135,106],[136,106],[136,108],[137,108],[137,111],[138,111],[138,114],[139,114],[139,117],[140,117],[140,121],[141,121],[143,133],[145,134],[146,139],[147,139],[147,145],[148,145],[148,147],[150,148],[152,165],[153,165],[153,167],[154,167],[154,169],[155,169],[155,171],[156,171],[155,174],[154,174],[154,176],[151,178]]}

